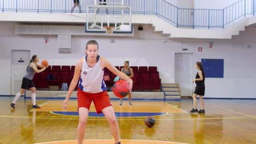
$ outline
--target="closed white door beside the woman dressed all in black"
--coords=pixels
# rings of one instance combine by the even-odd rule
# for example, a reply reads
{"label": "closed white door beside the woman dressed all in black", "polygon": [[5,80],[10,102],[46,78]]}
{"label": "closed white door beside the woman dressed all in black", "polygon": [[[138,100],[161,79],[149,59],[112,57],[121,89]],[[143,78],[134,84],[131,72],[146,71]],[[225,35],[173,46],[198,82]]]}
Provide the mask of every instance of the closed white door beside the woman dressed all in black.
{"label": "closed white door beside the woman dressed all in black", "polygon": [[192,87],[192,53],[175,53],[175,83],[179,83],[181,96],[191,96]]}

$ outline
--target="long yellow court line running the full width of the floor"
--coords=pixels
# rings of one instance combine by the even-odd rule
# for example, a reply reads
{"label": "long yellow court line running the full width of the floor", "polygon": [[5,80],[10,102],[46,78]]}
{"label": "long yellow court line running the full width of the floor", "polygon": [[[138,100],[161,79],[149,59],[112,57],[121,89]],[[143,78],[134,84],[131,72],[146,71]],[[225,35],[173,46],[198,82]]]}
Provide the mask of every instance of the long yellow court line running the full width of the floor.
{"label": "long yellow court line running the full width of the floor", "polygon": [[[25,117],[25,116],[0,116],[0,117],[9,117],[9,118],[36,118],[36,119],[65,119],[65,120],[78,120],[79,118],[50,118],[50,117]],[[177,118],[177,119],[156,119],[156,121],[189,121],[189,120],[209,120],[209,119],[235,119],[235,118],[247,118],[255,116],[241,116],[241,117],[222,117],[222,118]],[[92,119],[92,121],[107,121],[106,118],[102,119]],[[117,121],[144,121],[144,119],[117,119]]]}

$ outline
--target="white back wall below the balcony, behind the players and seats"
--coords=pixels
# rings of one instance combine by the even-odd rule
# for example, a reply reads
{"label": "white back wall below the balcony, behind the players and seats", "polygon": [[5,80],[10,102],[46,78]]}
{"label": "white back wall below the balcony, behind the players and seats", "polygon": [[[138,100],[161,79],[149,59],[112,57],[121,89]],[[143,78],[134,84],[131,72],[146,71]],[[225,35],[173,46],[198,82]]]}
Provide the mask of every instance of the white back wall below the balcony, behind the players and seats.
{"label": "white back wall below the balcony, behind the players and seats", "polygon": [[[174,82],[174,53],[187,48],[193,55],[193,63],[201,58],[224,58],[224,79],[206,79],[206,97],[213,98],[256,98],[256,29],[249,27],[240,36],[232,40],[175,39],[168,40],[152,33],[149,26],[144,31],[135,31],[135,37],[72,37],[72,53],[61,54],[57,50],[57,37],[50,36],[48,44],[44,35],[15,35],[15,23],[0,23],[0,95],[10,92],[10,51],[31,50],[40,59],[48,59],[50,65],[74,65],[84,56],[84,46],[89,39],[96,39],[100,44],[100,55],[109,59],[114,65],[122,65],[129,60],[131,65],[157,66],[163,83]],[[136,28],[135,28],[136,29]],[[115,43],[110,43],[114,39]],[[247,48],[247,44],[251,48]],[[202,52],[197,47],[203,47]],[[193,77],[196,74],[194,70]]]}

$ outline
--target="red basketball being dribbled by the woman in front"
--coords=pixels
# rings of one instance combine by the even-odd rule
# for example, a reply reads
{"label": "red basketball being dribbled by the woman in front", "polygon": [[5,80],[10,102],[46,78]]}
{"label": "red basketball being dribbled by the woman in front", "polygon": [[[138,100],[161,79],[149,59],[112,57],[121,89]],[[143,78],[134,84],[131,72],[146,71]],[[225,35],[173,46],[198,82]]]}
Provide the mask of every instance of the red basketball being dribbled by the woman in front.
{"label": "red basketball being dribbled by the woman in front", "polygon": [[129,94],[129,83],[124,80],[118,80],[112,87],[113,93],[119,97],[124,98]]}

